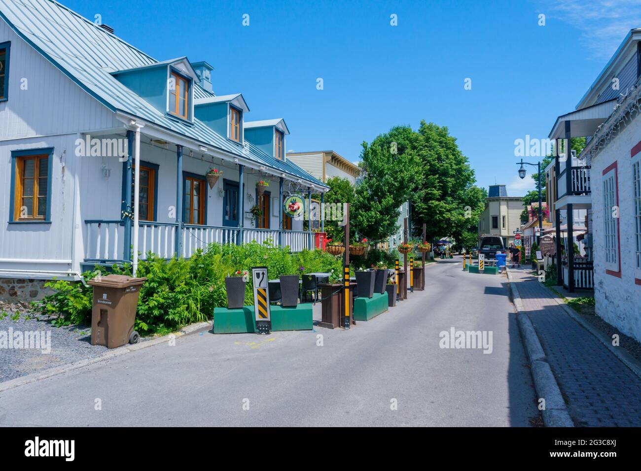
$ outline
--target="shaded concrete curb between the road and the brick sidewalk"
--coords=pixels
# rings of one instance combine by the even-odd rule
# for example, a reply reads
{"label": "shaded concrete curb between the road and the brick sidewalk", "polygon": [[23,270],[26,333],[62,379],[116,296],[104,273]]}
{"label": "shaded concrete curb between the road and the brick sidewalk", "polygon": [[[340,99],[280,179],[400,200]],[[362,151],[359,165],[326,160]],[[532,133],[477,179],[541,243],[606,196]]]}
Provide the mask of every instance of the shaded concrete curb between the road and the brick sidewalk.
{"label": "shaded concrete curb between the road and the brick sidewalk", "polygon": [[528,353],[534,387],[538,397],[545,399],[545,409],[541,411],[543,423],[545,427],[574,427],[572,418],[570,418],[570,414],[565,406],[561,390],[549,363],[547,363],[541,342],[538,340],[537,331],[532,325],[527,311],[523,307],[519,289],[516,283],[512,281],[510,270],[507,267],[505,270],[508,276],[508,282],[510,283],[512,302],[517,311],[517,324],[519,324],[519,331],[526,352]]}

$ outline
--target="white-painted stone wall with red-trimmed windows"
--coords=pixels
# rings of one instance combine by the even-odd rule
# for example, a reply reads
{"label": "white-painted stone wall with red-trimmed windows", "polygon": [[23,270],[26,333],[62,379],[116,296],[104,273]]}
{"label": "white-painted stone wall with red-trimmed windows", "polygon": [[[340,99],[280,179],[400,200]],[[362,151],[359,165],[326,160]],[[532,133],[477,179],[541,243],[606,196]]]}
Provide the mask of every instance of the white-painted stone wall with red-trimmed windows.
{"label": "white-painted stone wall with red-trimmed windows", "polygon": [[[641,286],[635,283],[637,240],[630,151],[641,140],[641,118],[625,128],[590,162],[594,297],[597,315],[622,333],[641,341]],[[620,275],[606,273],[604,260],[603,170],[617,162],[619,188]],[[611,210],[607,211],[610,215]]]}

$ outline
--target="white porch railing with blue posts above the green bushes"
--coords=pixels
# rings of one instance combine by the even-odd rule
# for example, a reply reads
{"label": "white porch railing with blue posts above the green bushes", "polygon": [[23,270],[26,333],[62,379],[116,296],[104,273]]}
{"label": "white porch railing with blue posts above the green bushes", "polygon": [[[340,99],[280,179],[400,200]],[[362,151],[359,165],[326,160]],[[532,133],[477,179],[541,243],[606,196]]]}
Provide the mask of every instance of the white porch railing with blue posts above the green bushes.
{"label": "white porch railing with blue posts above the green bushes", "polygon": [[[85,220],[85,262],[112,263],[124,261],[125,226],[121,220]],[[176,253],[176,236],[181,231],[181,255],[189,258],[197,249],[206,249],[209,244],[237,244],[238,227],[199,226],[196,224],[178,224],[175,222],[140,221],[138,226],[138,252],[140,260],[152,252],[161,258],[171,258]],[[258,242],[263,244],[271,240],[278,246],[279,231],[276,229],[242,229],[242,244]],[[133,229],[131,231],[133,240]],[[300,252],[310,247],[310,233],[304,231],[283,231],[283,247],[290,251]],[[312,242],[313,245],[313,242]],[[128,248],[128,250],[131,250]]]}

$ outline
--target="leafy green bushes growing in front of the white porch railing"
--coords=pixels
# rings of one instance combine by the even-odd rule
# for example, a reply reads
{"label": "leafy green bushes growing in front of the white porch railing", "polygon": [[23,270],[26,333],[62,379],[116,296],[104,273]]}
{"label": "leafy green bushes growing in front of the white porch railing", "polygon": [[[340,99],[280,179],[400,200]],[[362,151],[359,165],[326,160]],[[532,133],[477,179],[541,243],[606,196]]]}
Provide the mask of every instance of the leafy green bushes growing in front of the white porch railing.
{"label": "leafy green bushes growing in front of the white porch railing", "polygon": [[[193,322],[202,322],[213,315],[213,308],[227,305],[225,277],[237,270],[264,267],[269,277],[294,273],[342,273],[342,259],[327,252],[303,251],[291,254],[286,249],[271,244],[221,245],[211,244],[206,252],[196,251],[188,260],[165,260],[147,254],[138,263],[137,277],[146,277],[140,288],[135,329],[151,335],[168,333]],[[304,270],[299,270],[304,267]],[[83,278],[96,277],[105,269],[85,272]],[[131,265],[113,266],[115,274],[131,275]],[[83,283],[62,280],[49,281],[47,287],[55,291],[32,303],[35,311],[43,314],[60,314],[56,325],[89,324],[93,290]],[[253,285],[247,283],[245,304],[253,304]]]}

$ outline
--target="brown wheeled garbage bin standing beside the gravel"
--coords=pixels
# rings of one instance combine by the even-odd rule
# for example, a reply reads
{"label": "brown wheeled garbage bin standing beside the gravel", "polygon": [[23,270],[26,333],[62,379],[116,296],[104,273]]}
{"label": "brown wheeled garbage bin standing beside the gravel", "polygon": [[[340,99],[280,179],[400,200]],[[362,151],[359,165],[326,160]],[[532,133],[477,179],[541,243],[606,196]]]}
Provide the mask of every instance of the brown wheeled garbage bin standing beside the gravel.
{"label": "brown wheeled garbage bin standing beside the gravel", "polygon": [[91,344],[110,349],[125,343],[137,343],[133,330],[140,285],[147,278],[107,275],[87,281],[94,286],[94,307],[91,313]]}

